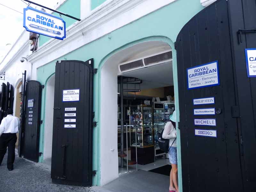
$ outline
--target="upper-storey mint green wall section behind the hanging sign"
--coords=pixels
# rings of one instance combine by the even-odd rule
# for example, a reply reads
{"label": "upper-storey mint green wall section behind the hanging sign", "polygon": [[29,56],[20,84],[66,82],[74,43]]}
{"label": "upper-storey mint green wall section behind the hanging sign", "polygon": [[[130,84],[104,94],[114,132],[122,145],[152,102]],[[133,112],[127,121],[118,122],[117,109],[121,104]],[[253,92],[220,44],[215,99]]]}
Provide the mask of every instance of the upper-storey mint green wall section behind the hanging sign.
{"label": "upper-storey mint green wall section behind the hanging sign", "polygon": [[[80,0],[67,0],[57,10],[80,19]],[[53,13],[53,15],[60,17],[59,13]],[[66,17],[65,15],[61,15],[61,18],[66,22],[66,29],[77,21],[69,17]],[[51,37],[40,35],[39,46],[43,45],[50,39]],[[62,40],[59,40],[59,41],[62,41]]]}

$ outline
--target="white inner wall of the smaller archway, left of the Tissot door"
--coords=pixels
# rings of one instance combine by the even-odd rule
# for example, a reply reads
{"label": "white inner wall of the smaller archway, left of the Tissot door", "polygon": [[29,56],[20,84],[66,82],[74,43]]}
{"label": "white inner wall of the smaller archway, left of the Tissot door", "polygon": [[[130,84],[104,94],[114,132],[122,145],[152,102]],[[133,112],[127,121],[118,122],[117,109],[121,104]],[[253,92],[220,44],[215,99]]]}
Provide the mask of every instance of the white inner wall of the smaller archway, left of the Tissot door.
{"label": "white inner wall of the smaller archway, left of the Tissot door", "polygon": [[44,122],[44,159],[52,157],[52,125],[53,125],[53,104],[54,104],[55,76],[48,79],[45,102],[45,122]]}

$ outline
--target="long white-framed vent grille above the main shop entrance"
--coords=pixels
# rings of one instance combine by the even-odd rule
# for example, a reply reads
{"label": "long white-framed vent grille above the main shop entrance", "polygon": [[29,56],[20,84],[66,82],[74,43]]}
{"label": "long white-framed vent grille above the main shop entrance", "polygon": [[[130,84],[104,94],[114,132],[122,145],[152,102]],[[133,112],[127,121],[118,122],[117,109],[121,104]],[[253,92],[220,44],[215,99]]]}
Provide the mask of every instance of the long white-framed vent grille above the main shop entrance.
{"label": "long white-framed vent grille above the main shop entrance", "polygon": [[164,51],[164,52],[159,52],[154,55],[149,55],[144,58],[127,61],[127,62],[119,64],[118,67],[119,67],[120,73],[125,73],[128,71],[133,71],[133,70],[140,69],[140,68],[158,65],[158,64],[165,63],[168,61],[172,61],[172,51],[170,51],[170,50]]}

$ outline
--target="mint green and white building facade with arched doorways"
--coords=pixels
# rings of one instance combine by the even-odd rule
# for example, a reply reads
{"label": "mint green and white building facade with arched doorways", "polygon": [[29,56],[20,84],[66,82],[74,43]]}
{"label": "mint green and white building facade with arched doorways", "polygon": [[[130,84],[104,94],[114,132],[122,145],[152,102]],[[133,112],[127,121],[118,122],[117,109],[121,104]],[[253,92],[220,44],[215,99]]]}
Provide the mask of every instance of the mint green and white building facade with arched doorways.
{"label": "mint green and white building facade with arched doorways", "polygon": [[[63,41],[41,35],[38,49],[32,53],[29,51],[28,32],[24,31],[2,61],[0,71],[6,72],[6,80],[15,85],[16,92],[24,70],[28,80],[44,85],[39,162],[52,157],[57,61],[88,61],[93,58],[93,68],[97,68],[93,75],[93,122],[97,123],[92,128],[92,170],[96,171],[92,185],[102,186],[118,178],[118,134],[112,127],[118,126],[117,77],[124,74],[118,67],[120,63],[171,51],[168,77],[172,84],[166,85],[174,87],[176,122],[179,122],[179,79],[174,43],[183,26],[213,2],[215,0],[62,0],[57,9],[81,19],[76,21],[62,16],[67,26]],[[21,57],[27,58],[24,64],[20,63]],[[152,73],[151,78],[161,77]],[[178,177],[182,183],[180,146],[180,130],[177,129]]]}

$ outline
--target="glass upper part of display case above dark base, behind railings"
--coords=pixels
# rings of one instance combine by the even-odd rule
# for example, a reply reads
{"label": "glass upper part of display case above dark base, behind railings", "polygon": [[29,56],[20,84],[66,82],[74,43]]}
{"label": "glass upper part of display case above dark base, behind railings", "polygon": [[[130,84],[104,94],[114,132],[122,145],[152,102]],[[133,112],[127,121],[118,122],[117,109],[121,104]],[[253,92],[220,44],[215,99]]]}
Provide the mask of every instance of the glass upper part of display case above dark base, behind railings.
{"label": "glass upper part of display case above dark base, behind railings", "polygon": [[[152,121],[152,106],[138,105],[130,106],[130,145],[138,148],[154,146],[154,129]],[[136,135],[137,129],[137,135]]]}

